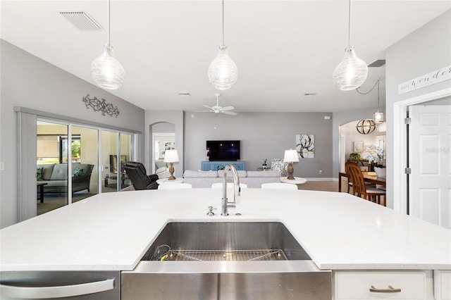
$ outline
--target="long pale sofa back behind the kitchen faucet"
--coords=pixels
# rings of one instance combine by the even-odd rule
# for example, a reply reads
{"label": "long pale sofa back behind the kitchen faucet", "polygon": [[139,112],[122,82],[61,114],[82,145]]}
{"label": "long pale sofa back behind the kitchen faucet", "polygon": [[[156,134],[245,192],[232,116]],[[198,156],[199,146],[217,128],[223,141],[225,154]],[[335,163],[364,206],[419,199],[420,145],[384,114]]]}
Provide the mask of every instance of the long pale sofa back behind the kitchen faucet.
{"label": "long pale sofa back behind the kitchen faucet", "polygon": [[[280,182],[280,173],[276,170],[266,171],[244,171],[238,170],[240,183],[245,183],[247,187],[260,188],[262,183]],[[183,182],[190,183],[192,187],[211,187],[216,182],[223,181],[223,170],[218,171],[194,171],[185,170]],[[228,181],[232,181],[231,173],[227,174]]]}

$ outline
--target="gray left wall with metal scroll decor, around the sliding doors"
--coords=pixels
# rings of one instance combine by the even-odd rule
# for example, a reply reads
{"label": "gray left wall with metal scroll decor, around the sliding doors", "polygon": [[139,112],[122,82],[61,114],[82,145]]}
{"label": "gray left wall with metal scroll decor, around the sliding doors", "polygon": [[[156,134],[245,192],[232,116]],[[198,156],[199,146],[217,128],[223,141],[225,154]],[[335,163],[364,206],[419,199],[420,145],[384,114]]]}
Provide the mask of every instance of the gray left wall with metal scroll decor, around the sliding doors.
{"label": "gray left wall with metal scroll decor, around the sliding doors", "polygon": [[[0,40],[1,46],[1,105],[0,105],[0,161],[4,170],[0,172],[0,226],[17,222],[17,139],[16,113],[13,106],[32,108],[70,118],[87,120],[113,127],[144,132],[144,110],[124,101],[109,92],[80,80],[36,56]],[[89,65],[87,65],[89,72]],[[87,109],[82,98],[89,94],[104,98],[118,106],[118,118],[101,115]],[[142,135],[140,135],[142,139]],[[138,141],[142,155],[142,141]]]}

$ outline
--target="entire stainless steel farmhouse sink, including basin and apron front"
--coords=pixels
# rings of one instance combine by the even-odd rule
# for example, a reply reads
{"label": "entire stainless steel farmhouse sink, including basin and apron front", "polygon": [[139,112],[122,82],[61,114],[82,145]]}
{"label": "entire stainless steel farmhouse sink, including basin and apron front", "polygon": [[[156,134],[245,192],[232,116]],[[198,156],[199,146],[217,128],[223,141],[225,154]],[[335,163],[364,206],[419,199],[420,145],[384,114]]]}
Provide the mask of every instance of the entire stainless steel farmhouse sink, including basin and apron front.
{"label": "entire stainless steel farmhouse sink, including basin and apron front", "polygon": [[279,222],[168,223],[135,270],[122,299],[328,299],[319,270]]}

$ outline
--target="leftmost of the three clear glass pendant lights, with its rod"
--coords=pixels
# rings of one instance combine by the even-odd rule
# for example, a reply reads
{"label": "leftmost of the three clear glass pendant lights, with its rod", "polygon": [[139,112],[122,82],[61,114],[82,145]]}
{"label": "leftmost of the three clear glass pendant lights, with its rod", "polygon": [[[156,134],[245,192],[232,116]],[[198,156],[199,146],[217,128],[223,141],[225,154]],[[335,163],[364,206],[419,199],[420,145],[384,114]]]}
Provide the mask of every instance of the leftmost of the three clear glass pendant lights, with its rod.
{"label": "leftmost of the three clear glass pendant lights, with its rod", "polygon": [[125,70],[114,57],[110,44],[110,0],[108,0],[108,43],[104,52],[91,63],[91,76],[104,89],[118,89],[125,80]]}

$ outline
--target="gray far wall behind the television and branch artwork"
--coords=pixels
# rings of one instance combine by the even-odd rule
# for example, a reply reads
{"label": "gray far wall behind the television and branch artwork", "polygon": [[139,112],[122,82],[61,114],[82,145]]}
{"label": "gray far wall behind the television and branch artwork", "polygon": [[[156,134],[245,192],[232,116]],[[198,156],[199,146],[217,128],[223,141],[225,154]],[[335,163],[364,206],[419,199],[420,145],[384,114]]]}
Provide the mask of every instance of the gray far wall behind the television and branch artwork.
{"label": "gray far wall behind the television and branch artwork", "polygon": [[[206,160],[205,142],[240,139],[241,160],[247,170],[257,170],[264,158],[283,158],[285,150],[295,149],[295,136],[315,136],[314,158],[299,159],[295,176],[330,178],[332,173],[331,113],[214,113],[185,112],[185,170],[199,170]],[[319,170],[323,170],[319,174]]]}

